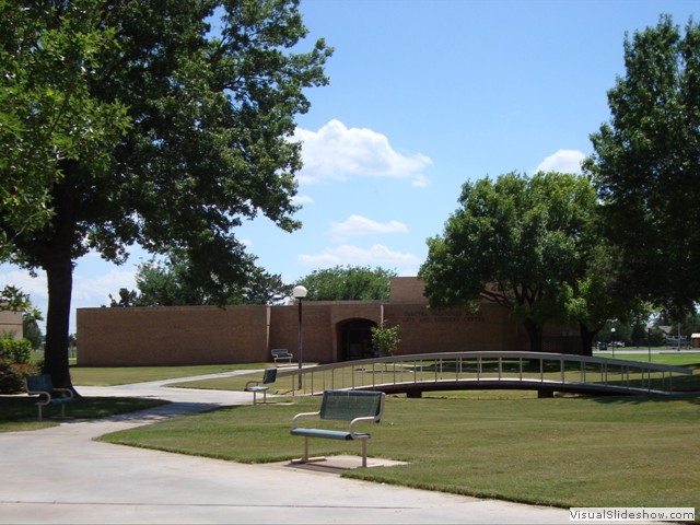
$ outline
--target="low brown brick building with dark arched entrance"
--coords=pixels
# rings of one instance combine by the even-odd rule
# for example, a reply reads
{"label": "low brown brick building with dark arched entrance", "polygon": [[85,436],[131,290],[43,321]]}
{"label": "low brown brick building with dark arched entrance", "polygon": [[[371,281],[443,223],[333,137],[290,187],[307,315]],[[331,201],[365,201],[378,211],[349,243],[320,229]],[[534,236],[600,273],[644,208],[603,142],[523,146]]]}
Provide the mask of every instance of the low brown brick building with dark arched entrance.
{"label": "low brown brick building with dark arched entrance", "polygon": [[[476,315],[428,310],[423,283],[392,279],[388,301],[304,301],[304,361],[371,358],[371,328],[399,325],[399,354],[528,350],[509,311],[483,303]],[[78,364],[186,365],[270,361],[270,349],[296,354],[299,310],[277,306],[147,306],[78,310]],[[578,353],[579,337],[552,329],[545,350]],[[295,355],[296,359],[296,355]]]}

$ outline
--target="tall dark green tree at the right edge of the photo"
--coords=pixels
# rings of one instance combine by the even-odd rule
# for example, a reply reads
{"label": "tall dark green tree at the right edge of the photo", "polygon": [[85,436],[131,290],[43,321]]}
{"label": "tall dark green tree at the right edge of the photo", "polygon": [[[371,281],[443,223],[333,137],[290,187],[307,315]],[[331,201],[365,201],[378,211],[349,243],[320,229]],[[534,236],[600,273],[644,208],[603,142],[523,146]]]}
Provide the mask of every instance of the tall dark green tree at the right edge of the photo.
{"label": "tall dark green tree at the right edge of the photo", "polygon": [[675,311],[700,300],[700,25],[670,16],[625,39],[610,121],[584,163],[606,235],[622,248],[621,291]]}

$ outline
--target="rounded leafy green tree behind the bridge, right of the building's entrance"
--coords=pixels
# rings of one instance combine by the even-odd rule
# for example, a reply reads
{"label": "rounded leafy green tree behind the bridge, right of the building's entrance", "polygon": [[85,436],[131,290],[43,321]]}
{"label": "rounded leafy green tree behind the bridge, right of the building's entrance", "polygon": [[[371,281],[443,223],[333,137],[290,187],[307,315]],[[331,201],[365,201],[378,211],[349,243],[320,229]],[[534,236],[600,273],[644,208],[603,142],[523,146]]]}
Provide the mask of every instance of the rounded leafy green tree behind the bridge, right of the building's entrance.
{"label": "rounded leafy green tree behind the bridge, right of the building's entrance", "polygon": [[508,307],[532,351],[545,323],[570,320],[574,282],[595,244],[595,191],[582,176],[509,173],[466,183],[444,233],[428,240],[419,275],[432,307]]}

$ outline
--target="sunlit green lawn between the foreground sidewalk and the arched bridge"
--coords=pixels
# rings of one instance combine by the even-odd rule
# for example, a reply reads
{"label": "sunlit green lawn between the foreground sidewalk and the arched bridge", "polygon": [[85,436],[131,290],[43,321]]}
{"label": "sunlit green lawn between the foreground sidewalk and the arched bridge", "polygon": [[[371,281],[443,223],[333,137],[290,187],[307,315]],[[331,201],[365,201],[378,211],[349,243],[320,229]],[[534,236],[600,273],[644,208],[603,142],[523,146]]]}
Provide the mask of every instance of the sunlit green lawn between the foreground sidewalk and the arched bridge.
{"label": "sunlit green lawn between the foreground sidewalk and the arched bridge", "polygon": [[[559,397],[451,393],[387,399],[371,456],[409,462],[349,477],[557,506],[700,508],[700,397]],[[102,438],[113,443],[235,462],[300,457],[291,405],[244,406]],[[192,432],[196,428],[197,432]],[[312,455],[359,454],[352,442],[312,440]]]}

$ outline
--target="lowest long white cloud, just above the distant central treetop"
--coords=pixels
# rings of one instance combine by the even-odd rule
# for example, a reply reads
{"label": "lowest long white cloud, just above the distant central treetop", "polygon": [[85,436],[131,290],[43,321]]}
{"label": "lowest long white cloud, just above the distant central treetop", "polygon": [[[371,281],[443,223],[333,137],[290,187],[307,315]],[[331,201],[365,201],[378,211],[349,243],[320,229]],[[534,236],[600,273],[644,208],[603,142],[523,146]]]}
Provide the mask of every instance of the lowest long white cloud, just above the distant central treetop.
{"label": "lowest long white cloud, just above the distant central treetop", "polygon": [[418,266],[420,260],[412,254],[394,252],[381,244],[373,245],[370,249],[343,244],[335,248],[326,249],[319,254],[302,254],[299,262],[303,266],[315,268],[332,268],[334,266]]}

